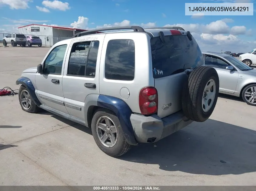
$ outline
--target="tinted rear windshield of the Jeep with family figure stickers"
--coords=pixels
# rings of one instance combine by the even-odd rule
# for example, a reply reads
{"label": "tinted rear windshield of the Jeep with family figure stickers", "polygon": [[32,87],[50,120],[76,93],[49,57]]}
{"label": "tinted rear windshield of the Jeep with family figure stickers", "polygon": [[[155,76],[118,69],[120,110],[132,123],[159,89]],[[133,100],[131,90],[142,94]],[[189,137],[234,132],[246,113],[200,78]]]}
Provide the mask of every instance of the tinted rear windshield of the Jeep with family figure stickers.
{"label": "tinted rear windshield of the Jeep with family figure stickers", "polygon": [[161,78],[204,64],[201,50],[192,37],[187,35],[164,36],[151,39],[153,77]]}

